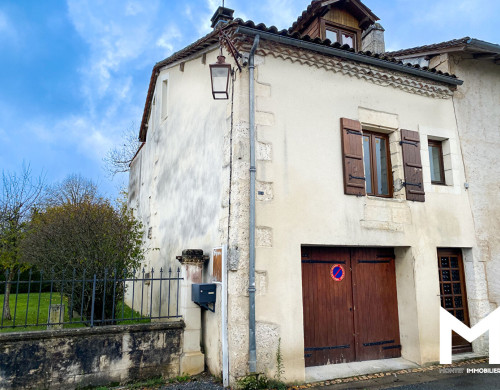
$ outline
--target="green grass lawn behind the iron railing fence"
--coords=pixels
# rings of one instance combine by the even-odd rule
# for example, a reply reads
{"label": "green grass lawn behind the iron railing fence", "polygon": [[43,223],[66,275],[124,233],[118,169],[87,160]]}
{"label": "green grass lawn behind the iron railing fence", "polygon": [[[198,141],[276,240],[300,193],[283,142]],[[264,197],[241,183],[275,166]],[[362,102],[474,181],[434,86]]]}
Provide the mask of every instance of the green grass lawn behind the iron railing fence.
{"label": "green grass lawn behind the iron railing fence", "polygon": [[[40,303],[38,300],[40,298]],[[0,294],[0,321],[3,313],[3,294]],[[31,293],[29,295],[29,305],[28,305],[28,294],[18,294],[17,295],[17,309],[16,305],[16,295],[11,294],[9,303],[10,303],[10,314],[13,320],[7,321],[3,320],[3,328],[0,329],[0,332],[24,332],[24,331],[32,331],[32,330],[44,330],[47,329],[47,320],[49,315],[49,305],[52,302],[53,305],[61,303],[61,294],[52,293],[52,301],[50,297],[50,293]],[[63,296],[62,300],[65,305],[65,313],[64,313],[64,322],[69,322],[68,316],[68,297]],[[26,310],[27,309],[27,310]],[[14,318],[14,311],[16,316]],[[122,302],[117,303],[115,318],[117,318],[117,325],[121,324],[139,324],[139,323],[149,323],[151,320],[149,318],[144,319],[136,319],[140,317],[140,313],[134,311],[134,319],[132,318],[132,309],[125,305],[123,307],[123,317],[122,317]],[[125,318],[124,320],[120,320],[120,318]],[[126,320],[128,318],[128,320]],[[14,325],[15,319],[15,327]],[[80,317],[73,317],[73,321],[80,321]],[[27,324],[25,326],[25,324]],[[38,326],[36,326],[38,324]],[[21,327],[19,327],[21,325]],[[40,326],[41,325],[41,326]],[[83,328],[84,324],[65,324],[64,328]]]}

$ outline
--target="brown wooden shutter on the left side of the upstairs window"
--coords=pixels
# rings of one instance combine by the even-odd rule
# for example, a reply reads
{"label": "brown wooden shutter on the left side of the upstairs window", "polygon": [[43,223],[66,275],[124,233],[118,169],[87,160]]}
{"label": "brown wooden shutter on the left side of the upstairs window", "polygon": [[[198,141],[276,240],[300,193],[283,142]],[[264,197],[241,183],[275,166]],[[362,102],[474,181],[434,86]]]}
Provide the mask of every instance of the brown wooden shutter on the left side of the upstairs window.
{"label": "brown wooden shutter on the left side of the upstairs window", "polygon": [[365,195],[361,123],[352,119],[341,118],[340,127],[342,131],[344,193],[347,195]]}

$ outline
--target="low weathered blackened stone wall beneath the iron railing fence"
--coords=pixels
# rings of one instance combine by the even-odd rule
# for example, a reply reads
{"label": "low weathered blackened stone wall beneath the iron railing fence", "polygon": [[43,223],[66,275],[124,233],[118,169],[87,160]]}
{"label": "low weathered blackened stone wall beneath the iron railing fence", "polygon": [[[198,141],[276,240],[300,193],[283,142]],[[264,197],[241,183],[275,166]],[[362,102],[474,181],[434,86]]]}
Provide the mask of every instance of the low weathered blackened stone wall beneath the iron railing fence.
{"label": "low weathered blackened stone wall beneath the iron railing fence", "polygon": [[0,389],[74,389],[180,374],[184,323],[0,334]]}

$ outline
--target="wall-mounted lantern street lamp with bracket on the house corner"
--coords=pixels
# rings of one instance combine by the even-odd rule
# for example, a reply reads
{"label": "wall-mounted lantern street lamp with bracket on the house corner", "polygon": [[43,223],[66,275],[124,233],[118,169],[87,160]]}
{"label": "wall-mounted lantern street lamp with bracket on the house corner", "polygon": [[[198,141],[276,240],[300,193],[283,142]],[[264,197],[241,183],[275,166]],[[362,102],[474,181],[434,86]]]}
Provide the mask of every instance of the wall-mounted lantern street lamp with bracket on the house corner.
{"label": "wall-mounted lantern street lamp with bracket on the house corner", "polygon": [[215,64],[210,64],[210,77],[212,79],[212,96],[215,100],[227,100],[229,99],[229,78],[232,74],[231,64],[226,63],[226,57],[222,54],[222,44],[226,43],[229,53],[233,56],[238,69],[241,72],[241,66],[238,62],[238,58],[241,54],[238,52],[236,47],[234,47],[233,42],[227,36],[227,34],[222,30],[219,30],[219,41],[220,41],[220,54],[217,57],[217,62]]}

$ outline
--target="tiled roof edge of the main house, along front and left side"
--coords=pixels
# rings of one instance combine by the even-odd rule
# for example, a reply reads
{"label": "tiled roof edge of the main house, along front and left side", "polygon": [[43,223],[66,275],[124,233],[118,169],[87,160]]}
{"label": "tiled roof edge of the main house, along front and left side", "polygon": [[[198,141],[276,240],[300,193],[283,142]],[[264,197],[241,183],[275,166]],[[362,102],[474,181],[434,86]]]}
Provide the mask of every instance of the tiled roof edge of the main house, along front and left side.
{"label": "tiled roof edge of the main house, along front and left side", "polygon": [[[351,0],[353,1],[353,0]],[[314,3],[314,1],[313,1]],[[462,81],[458,80],[455,75],[450,75],[448,73],[443,73],[441,71],[436,71],[436,69],[429,69],[427,67],[420,67],[418,64],[404,64],[402,61],[391,57],[386,54],[374,54],[369,51],[355,52],[354,49],[350,48],[349,45],[341,45],[338,42],[332,43],[329,39],[322,40],[321,38],[312,39],[308,35],[301,36],[298,32],[290,32],[290,30],[279,31],[275,26],[267,27],[265,24],[261,23],[255,25],[251,20],[243,21],[241,19],[235,19],[230,23],[227,23],[223,30],[233,30],[235,33],[246,34],[246,35],[256,35],[260,34],[262,39],[270,39],[281,44],[291,45],[294,47],[303,47],[308,50],[313,50],[325,55],[337,56],[341,58],[346,58],[352,61],[357,61],[361,63],[367,63],[370,65],[379,66],[386,69],[391,69],[399,71],[402,73],[409,73],[419,77],[431,79],[434,81],[439,81],[450,86],[461,85]],[[169,64],[181,61],[192,54],[213,46],[219,42],[218,30],[214,30],[204,36],[203,38],[197,40],[191,45],[185,47],[182,50],[172,54],[170,57],[158,62],[154,67],[151,74],[151,80],[149,83],[148,95],[146,98],[146,104],[144,106],[144,112],[142,116],[141,128],[139,132],[139,140],[144,142],[146,140],[147,134],[147,123],[149,118],[149,113],[151,110],[151,103],[153,99],[154,89],[156,85],[156,80],[158,78],[160,69]]]}

